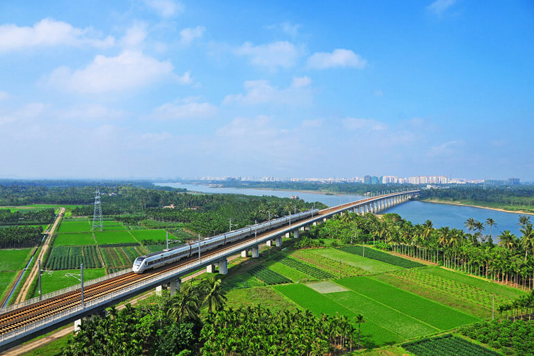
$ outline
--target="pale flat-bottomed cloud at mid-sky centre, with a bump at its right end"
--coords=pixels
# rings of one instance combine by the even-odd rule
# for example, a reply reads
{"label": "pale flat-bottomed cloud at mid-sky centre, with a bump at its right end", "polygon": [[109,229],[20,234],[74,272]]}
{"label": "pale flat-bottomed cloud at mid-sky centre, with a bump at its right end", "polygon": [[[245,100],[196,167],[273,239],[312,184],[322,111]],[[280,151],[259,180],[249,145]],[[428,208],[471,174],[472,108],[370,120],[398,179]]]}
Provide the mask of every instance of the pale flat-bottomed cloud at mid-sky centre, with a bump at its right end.
{"label": "pale flat-bottomed cloud at mid-sky centre, with a bump at its right end", "polygon": [[279,90],[270,86],[269,81],[245,81],[243,88],[245,94],[227,95],[223,104],[236,102],[244,105],[256,105],[265,103],[301,105],[312,101],[312,92],[308,88],[312,79],[307,76],[294,78],[291,86]]}

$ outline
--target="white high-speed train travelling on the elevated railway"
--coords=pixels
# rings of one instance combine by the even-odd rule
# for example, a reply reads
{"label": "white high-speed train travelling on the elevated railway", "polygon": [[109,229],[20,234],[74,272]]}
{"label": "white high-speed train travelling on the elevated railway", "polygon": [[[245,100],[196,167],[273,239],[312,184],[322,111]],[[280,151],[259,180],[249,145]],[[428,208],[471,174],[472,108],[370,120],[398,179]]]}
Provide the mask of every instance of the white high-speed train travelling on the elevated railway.
{"label": "white high-speed train travelling on the elevated railway", "polygon": [[298,221],[318,214],[318,209],[302,211],[302,213],[284,216],[282,218],[277,218],[275,220],[270,220],[265,223],[260,223],[257,225],[252,225],[249,227],[244,227],[243,229],[238,229],[233,232],[228,232],[227,234],[220,234],[213,237],[204,238],[204,240],[195,243],[187,243],[186,245],[177,246],[175,248],[169,248],[160,252],[154,252],[151,254],[146,254],[145,256],[140,256],[133,261],[133,267],[131,270],[135,273],[143,273],[145,270],[152,268],[158,268],[165,266],[166,264],[172,264],[180,259],[191,257],[194,254],[197,254],[199,249],[200,253],[204,251],[213,250],[220,246],[226,245],[227,243],[233,243],[235,241],[241,240],[246,236],[250,236],[257,232],[258,234],[275,227],[280,227],[289,223],[290,221]]}

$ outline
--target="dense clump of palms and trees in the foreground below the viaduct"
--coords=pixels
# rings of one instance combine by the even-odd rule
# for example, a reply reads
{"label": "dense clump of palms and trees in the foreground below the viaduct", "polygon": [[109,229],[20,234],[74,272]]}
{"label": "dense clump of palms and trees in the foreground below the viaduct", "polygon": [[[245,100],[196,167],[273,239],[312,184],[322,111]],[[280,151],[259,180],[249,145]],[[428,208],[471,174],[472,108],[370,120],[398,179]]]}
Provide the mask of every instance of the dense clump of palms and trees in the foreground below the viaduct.
{"label": "dense clump of palms and trees in the foreground below the viaduct", "polygon": [[175,296],[152,296],[120,312],[111,307],[83,321],[62,355],[332,355],[357,348],[364,322],[260,305],[225,308],[225,300],[211,276],[182,284]]}

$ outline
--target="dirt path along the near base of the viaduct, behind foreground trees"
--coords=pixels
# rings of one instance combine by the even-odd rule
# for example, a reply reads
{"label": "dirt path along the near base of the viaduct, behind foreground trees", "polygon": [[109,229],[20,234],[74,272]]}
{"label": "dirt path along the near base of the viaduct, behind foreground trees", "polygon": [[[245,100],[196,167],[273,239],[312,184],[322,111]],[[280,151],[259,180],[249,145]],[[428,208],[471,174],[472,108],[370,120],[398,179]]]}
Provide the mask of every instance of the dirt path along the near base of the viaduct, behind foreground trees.
{"label": "dirt path along the near base of the viaduct, behind foreground trees", "polygon": [[[240,254],[236,254],[235,256],[229,257],[228,261],[234,261],[234,259],[240,258]],[[192,275],[188,275],[187,277],[184,277],[181,279],[181,282],[186,282],[188,280],[192,280],[195,277],[198,277],[200,275],[203,275],[206,273],[206,268],[202,268],[202,270],[199,270],[196,273],[193,273]],[[145,293],[142,296],[138,296],[137,298],[133,298],[128,301],[131,305],[136,305],[141,300],[145,300],[149,298],[149,296],[152,296],[155,291]],[[117,309],[124,309],[124,303],[119,305]],[[29,343],[25,343],[23,345],[15,346],[14,348],[10,348],[9,350],[5,350],[2,353],[0,353],[1,356],[18,356],[18,355],[24,355],[25,353],[29,353],[30,351],[35,350],[36,348],[40,348],[44,345],[47,345],[48,343],[51,343],[52,341],[56,341],[57,339],[60,339],[62,337],[66,337],[68,334],[72,334],[72,330],[74,329],[74,324],[67,325],[64,329],[59,330],[58,332],[54,332],[53,334],[49,334],[46,337],[42,337],[40,339],[30,341]]]}

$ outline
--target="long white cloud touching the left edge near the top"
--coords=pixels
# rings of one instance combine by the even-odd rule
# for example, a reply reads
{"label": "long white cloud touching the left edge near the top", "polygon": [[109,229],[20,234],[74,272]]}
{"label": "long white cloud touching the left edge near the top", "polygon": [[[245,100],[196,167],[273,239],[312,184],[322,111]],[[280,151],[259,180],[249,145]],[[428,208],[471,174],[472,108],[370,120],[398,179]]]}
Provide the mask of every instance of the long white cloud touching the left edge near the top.
{"label": "long white cloud touching the left edge near the top", "polygon": [[54,19],[42,19],[33,27],[3,24],[0,26],[0,52],[59,45],[107,48],[115,44],[115,39],[111,36],[104,39],[99,37],[101,36],[90,28],[76,29],[66,22]]}

